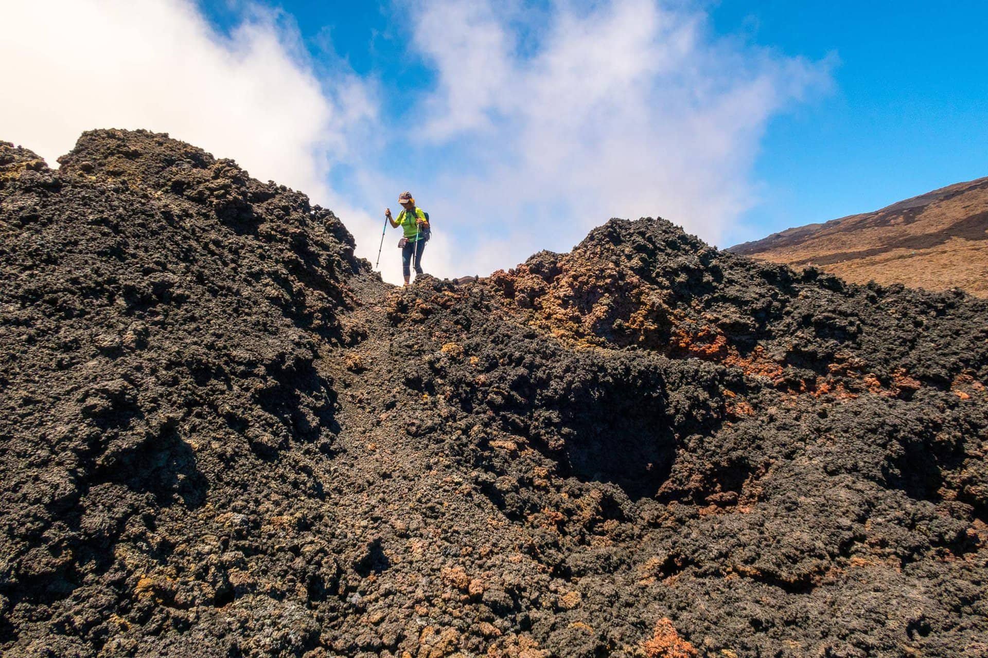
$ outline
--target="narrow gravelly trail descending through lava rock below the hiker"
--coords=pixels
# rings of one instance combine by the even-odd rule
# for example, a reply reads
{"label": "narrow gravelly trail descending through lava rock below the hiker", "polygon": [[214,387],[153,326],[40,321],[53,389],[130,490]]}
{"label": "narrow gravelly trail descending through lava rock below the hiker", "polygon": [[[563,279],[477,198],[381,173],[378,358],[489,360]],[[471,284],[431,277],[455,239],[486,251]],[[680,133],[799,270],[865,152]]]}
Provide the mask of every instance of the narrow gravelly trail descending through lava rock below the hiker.
{"label": "narrow gravelly trail descending through lava rock below the hiker", "polygon": [[[362,581],[333,648],[540,655],[534,640],[517,636],[515,602],[502,589],[510,571],[516,586],[536,579],[539,565],[520,552],[528,538],[480,493],[478,474],[457,468],[442,438],[420,433],[421,416],[406,411],[403,398],[431,401],[393,381],[408,361],[401,345],[417,342],[386,320],[401,291],[371,276],[351,284],[362,302],[342,322],[366,338],[329,352],[321,365],[341,391],[333,474],[367,486],[360,494],[367,511],[351,520],[366,553],[354,559]],[[352,498],[355,488],[340,493]],[[391,597],[408,602],[406,610],[396,615]]]}

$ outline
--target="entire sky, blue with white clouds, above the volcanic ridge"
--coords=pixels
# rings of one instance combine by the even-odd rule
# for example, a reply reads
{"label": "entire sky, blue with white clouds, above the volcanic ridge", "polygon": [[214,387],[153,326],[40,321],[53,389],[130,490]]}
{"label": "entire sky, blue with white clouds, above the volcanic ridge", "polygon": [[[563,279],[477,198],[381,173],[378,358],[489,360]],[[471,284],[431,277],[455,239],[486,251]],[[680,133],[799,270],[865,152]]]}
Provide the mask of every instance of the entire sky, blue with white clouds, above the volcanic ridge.
{"label": "entire sky, blue with white clouds, above the volcanic ridge", "polygon": [[0,24],[0,138],[53,163],[84,129],[169,132],[334,209],[371,260],[411,189],[443,276],[612,216],[727,247],[988,176],[985,2],[49,0]]}

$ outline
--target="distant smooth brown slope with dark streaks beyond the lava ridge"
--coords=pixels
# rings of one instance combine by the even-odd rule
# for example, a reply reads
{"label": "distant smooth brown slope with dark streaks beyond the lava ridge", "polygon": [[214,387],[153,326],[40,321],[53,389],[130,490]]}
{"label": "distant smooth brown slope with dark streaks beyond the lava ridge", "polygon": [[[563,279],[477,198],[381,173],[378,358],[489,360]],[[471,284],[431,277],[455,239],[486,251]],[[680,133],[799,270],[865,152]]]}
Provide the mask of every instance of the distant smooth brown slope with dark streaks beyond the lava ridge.
{"label": "distant smooth brown slope with dark streaks beyond the lava ridge", "polygon": [[890,206],[786,229],[729,252],[813,264],[849,281],[963,288],[988,297],[988,178]]}

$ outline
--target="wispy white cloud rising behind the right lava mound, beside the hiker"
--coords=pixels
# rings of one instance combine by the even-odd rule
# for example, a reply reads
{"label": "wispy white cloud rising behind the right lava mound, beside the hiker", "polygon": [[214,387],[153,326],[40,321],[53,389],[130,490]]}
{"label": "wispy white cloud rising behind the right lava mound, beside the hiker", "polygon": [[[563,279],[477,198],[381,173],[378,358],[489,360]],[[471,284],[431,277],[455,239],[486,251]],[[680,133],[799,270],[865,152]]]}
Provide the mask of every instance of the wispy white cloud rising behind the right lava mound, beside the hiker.
{"label": "wispy white cloud rising behind the right lava mound, beside the hiker", "polygon": [[455,144],[480,163],[432,183],[443,216],[485,220],[454,267],[568,250],[613,216],[661,215],[716,243],[756,201],[767,122],[826,88],[829,64],[718,40],[699,10],[673,6],[557,2],[545,26],[485,0],[411,10],[438,72],[420,147]]}

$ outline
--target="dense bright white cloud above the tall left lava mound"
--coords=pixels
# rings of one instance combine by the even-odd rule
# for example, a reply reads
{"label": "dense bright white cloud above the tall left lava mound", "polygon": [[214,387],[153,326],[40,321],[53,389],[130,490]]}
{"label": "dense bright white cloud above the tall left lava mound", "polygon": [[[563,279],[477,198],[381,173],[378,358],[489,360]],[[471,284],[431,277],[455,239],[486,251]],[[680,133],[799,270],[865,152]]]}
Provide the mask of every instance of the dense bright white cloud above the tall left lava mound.
{"label": "dense bright white cloud above the tall left lava mound", "polygon": [[0,138],[49,164],[91,128],[147,128],[332,205],[331,166],[375,116],[347,71],[330,93],[297,34],[248,6],[229,37],[184,0],[0,3]]}

